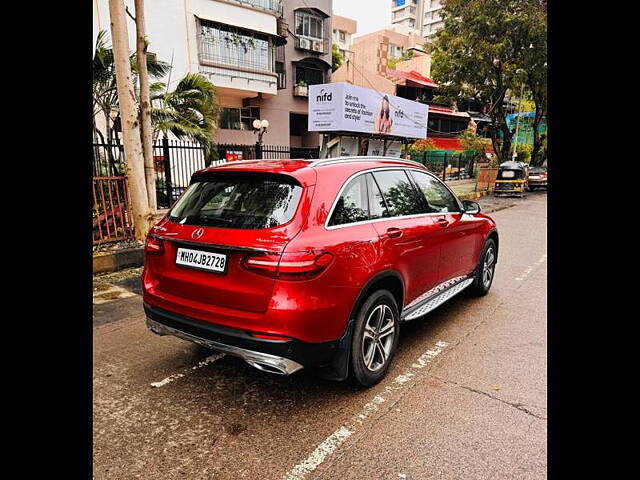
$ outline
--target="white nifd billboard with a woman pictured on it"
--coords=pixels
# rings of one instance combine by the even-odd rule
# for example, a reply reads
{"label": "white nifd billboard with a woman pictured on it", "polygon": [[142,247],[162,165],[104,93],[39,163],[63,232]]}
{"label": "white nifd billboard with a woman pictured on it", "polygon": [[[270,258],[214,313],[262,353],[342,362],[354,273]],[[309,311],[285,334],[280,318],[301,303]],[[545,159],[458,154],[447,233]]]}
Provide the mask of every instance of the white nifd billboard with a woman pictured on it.
{"label": "white nifd billboard with a woman pictured on it", "polygon": [[309,86],[310,132],[427,138],[428,106],[349,83]]}

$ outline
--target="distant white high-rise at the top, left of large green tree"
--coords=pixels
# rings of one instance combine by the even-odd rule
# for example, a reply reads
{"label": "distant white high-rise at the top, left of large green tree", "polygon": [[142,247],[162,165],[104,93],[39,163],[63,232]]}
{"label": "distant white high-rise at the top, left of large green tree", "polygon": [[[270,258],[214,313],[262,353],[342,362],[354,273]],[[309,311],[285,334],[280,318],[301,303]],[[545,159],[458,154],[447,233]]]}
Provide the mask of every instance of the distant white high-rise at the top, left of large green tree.
{"label": "distant white high-rise at the top, left of large green tree", "polygon": [[440,0],[391,0],[391,22],[428,40],[444,26],[441,9]]}

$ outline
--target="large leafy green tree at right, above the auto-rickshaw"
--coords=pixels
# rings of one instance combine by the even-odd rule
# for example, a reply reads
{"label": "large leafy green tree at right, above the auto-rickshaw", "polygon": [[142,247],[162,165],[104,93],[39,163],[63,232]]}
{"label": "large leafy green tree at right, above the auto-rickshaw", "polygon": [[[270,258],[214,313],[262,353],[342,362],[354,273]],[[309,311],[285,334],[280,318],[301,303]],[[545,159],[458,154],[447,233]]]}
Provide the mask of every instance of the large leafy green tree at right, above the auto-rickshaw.
{"label": "large leafy green tree at right, above the auto-rickshaw", "polygon": [[506,122],[505,96],[520,92],[529,76],[541,76],[528,69],[539,68],[532,56],[543,43],[539,12],[545,7],[545,0],[447,0],[444,28],[430,48],[433,78],[443,85],[444,97],[488,106],[491,141],[501,162],[510,158],[514,134]]}

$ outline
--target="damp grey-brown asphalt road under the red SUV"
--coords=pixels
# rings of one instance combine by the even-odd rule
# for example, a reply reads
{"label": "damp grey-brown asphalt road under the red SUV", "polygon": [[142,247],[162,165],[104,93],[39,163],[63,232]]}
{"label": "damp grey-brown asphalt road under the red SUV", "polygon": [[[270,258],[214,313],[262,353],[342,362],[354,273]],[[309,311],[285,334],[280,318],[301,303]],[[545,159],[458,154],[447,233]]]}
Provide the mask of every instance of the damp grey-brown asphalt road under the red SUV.
{"label": "damp grey-brown asphalt road under the red SUV", "polygon": [[490,293],[406,324],[371,389],[158,337],[135,282],[101,287],[94,478],[546,478],[546,195],[513,203]]}

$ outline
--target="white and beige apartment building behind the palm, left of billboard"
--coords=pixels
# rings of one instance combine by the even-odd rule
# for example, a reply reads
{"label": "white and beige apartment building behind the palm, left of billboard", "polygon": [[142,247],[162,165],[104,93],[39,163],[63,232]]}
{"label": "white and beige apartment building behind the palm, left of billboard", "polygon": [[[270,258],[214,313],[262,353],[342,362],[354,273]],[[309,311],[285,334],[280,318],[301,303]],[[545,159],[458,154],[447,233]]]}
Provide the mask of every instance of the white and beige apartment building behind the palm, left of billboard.
{"label": "white and beige apartment building behind the palm, left of billboard", "polygon": [[[108,0],[94,3],[94,32],[110,32]],[[135,11],[134,0],[125,4]],[[259,118],[270,123],[267,144],[318,145],[306,131],[307,98],[295,87],[330,81],[332,0],[153,0],[145,7],[149,51],[173,65],[170,87],[189,72],[216,86],[214,141],[255,143]],[[133,51],[133,22],[128,27]]]}

